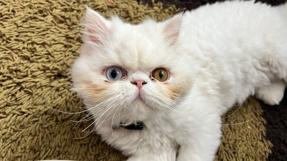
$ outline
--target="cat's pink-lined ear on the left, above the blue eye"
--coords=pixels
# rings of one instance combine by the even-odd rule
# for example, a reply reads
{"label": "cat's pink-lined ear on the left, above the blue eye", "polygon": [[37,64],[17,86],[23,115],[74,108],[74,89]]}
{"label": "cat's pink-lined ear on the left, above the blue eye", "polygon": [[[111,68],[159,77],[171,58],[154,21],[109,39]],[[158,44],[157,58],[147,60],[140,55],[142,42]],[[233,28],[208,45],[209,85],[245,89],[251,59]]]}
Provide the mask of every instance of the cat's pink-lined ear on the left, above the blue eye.
{"label": "cat's pink-lined ear on the left, above the blue eye", "polygon": [[104,41],[108,37],[108,33],[110,32],[108,29],[109,22],[93,9],[87,6],[86,8],[87,12],[84,24],[87,34],[86,41],[94,42],[98,45],[103,45]]}

